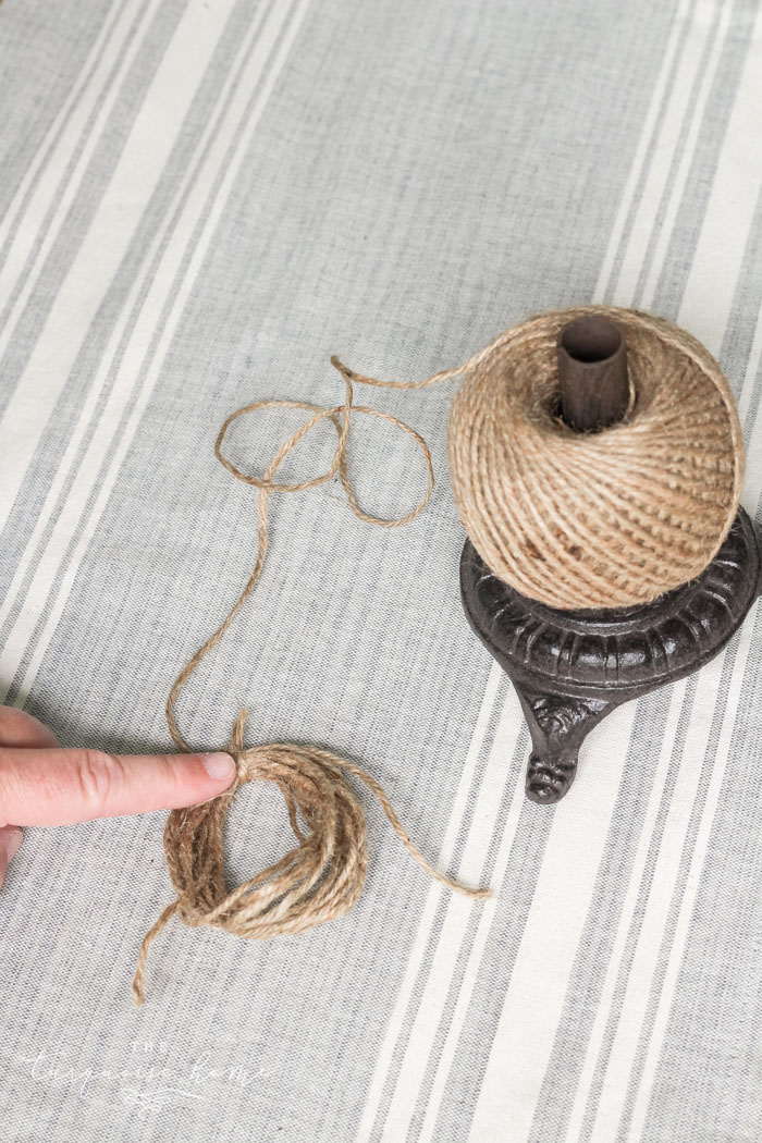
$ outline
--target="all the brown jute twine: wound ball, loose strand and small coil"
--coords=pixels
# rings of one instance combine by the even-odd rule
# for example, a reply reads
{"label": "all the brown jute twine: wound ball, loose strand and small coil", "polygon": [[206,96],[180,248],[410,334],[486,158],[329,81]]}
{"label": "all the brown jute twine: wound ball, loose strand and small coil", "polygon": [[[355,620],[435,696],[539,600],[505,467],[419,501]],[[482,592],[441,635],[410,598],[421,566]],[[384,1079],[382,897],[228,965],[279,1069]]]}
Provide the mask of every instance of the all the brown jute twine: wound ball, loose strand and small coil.
{"label": "all the brown jute twine: wound ball, loose strand and small coil", "polygon": [[[612,318],[626,342],[631,394],[625,418],[599,433],[577,433],[556,409],[556,337],[586,314]],[[423,389],[463,375],[450,417],[448,453],[456,504],[481,557],[520,592],[559,608],[648,602],[698,575],[719,551],[736,514],[744,449],[730,387],[716,361],[693,337],[663,319],[613,306],[556,310],[502,334],[470,361],[418,382],[385,382],[332,365],[344,377],[342,406],[259,401],[233,413],[215,445],[219,462],[238,480],[259,489],[258,554],[230,614],[178,676],[167,720],[179,750],[191,748],[174,713],[177,696],[201,660],[218,644],[254,591],[267,549],[267,511],[274,491],[319,487],[337,473],[359,519],[393,528],[412,520],[433,488],[425,441],[403,422],[353,406],[353,382]],[[275,453],[263,477],[236,469],[222,451],[230,425],[262,408],[305,409],[312,415]],[[351,487],[346,449],[354,413],[380,417],[420,447],[427,489],[412,511],[395,520],[363,512]],[[286,456],[320,422],[329,419],[338,443],[329,469],[311,480],[278,483]],[[468,896],[436,872],[412,845],[379,784],[359,766],[314,746],[287,743],[246,749],[246,711],[233,726],[230,752],[238,764],[233,786],[212,801],[173,810],[165,849],[177,900],[146,934],[133,990],[143,1002],[150,943],[175,914],[189,926],[210,925],[238,936],[302,933],[344,916],[356,902],[368,864],[362,808],[343,772],[379,799],[396,834],[435,879]],[[274,782],[288,808],[297,846],[243,885],[225,884],[223,829],[230,799],[252,778]]]}

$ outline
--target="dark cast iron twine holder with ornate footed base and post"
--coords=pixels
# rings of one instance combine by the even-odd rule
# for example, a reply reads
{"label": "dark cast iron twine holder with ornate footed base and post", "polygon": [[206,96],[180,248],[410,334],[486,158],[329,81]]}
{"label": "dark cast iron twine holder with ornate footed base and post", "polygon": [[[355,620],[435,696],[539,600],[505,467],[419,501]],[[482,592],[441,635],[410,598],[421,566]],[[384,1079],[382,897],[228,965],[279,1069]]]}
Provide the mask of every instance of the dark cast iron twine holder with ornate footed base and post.
{"label": "dark cast iron twine holder with ornate footed base and post", "polygon": [[[577,432],[621,419],[629,386],[624,335],[592,314],[559,333],[560,415]],[[573,505],[570,505],[570,511]],[[762,594],[762,537],[744,509],[699,576],[651,604],[560,610],[498,580],[466,541],[460,592],[468,622],[516,689],[532,749],[526,793],[569,791],[585,737],[616,706],[714,658]]]}

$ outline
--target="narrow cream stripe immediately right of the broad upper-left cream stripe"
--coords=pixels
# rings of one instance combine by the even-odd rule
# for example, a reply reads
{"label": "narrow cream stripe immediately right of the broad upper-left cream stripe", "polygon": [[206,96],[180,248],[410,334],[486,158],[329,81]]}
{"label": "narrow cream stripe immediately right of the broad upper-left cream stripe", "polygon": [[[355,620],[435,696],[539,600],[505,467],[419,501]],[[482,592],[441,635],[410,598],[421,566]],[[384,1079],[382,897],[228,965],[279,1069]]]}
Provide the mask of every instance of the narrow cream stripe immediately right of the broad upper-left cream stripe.
{"label": "narrow cream stripe immediately right of the broad upper-left cream stripe", "polygon": [[[225,149],[230,145],[244,114],[246,104],[260,78],[263,66],[262,56],[263,51],[266,54],[270,50],[270,41],[264,45],[259,55],[254,61],[250,83],[238,87],[236,98],[231,104],[231,107],[227,107],[228,97],[240,79],[241,71],[246,66],[247,57],[259,33],[265,11],[266,5],[262,5],[241,40],[236,57],[232,66],[227,70],[225,82],[217,94],[215,107],[207,118],[204,129],[199,136],[193,154],[185,167],[183,177],[178,182],[171,202],[165,211],[162,224],[157,229],[154,238],[143,257],[127,301],[122,305],[119,319],[111,333],[106,350],[101,358],[93,383],[80,409],[77,424],[66,443],[66,449],[50,482],[45,503],[34,522],[32,534],[18,560],[6,597],[0,604],[0,624],[2,624],[10,614],[22,591],[24,578],[42,542],[49,522],[51,519],[55,519],[55,527],[29,585],[24,606],[16,617],[16,622],[0,652],[0,678],[7,680],[6,686],[9,686],[10,680],[18,669],[18,664],[29,645],[30,633],[34,630],[37,620],[45,609],[58,569],[65,560],[71,538],[77,534],[81,517],[87,511],[88,498],[97,480],[98,471],[104,458],[109,455],[114,434],[119,430],[120,419],[133,398],[141,361],[149,352],[157,323],[161,319],[165,303],[176,280],[178,267],[192,241],[193,230],[199,223],[208,195],[210,194],[212,182],[218,176]],[[225,127],[225,125],[227,126]],[[212,139],[215,146],[208,159],[204,160],[204,152]],[[199,171],[202,171],[202,175]],[[179,219],[176,219],[177,211],[191,186],[192,194],[186,201]],[[154,261],[165,245],[163,257],[153,280],[151,280]],[[144,301],[142,302],[141,299]],[[130,345],[123,353],[120,353],[125,331],[129,322],[135,320],[136,314],[137,320],[130,334]],[[118,360],[120,360],[120,365],[117,368],[117,376],[111,393],[101,415],[98,431],[94,433],[93,440],[81,459],[79,472],[72,482],[64,504],[58,505],[62,489],[66,483],[72,467],[77,463],[82,440],[95,415],[106,379]]]}

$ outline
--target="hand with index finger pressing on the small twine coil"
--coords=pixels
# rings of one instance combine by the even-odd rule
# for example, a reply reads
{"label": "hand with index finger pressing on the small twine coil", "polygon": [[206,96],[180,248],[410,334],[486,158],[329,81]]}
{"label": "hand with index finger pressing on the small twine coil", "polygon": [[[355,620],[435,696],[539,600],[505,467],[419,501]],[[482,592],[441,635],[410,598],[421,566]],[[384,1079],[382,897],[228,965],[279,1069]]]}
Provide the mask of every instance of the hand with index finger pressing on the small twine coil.
{"label": "hand with index finger pressing on the small twine coil", "polygon": [[31,714],[0,706],[0,885],[22,842],[19,825],[70,825],[193,806],[222,793],[234,776],[230,754],[62,750]]}

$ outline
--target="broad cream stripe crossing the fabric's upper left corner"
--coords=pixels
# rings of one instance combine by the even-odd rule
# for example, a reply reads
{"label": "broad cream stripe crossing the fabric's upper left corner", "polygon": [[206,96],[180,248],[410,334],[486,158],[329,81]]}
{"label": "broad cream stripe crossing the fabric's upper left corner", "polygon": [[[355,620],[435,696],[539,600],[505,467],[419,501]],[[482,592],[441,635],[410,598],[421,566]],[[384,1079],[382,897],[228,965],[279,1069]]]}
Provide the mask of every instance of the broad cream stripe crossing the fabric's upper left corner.
{"label": "broad cream stripe crossing the fabric's upper left corner", "polygon": [[[189,0],[88,233],[0,422],[0,530],[143,217],[234,0]],[[157,130],[157,120],[163,125]]]}

